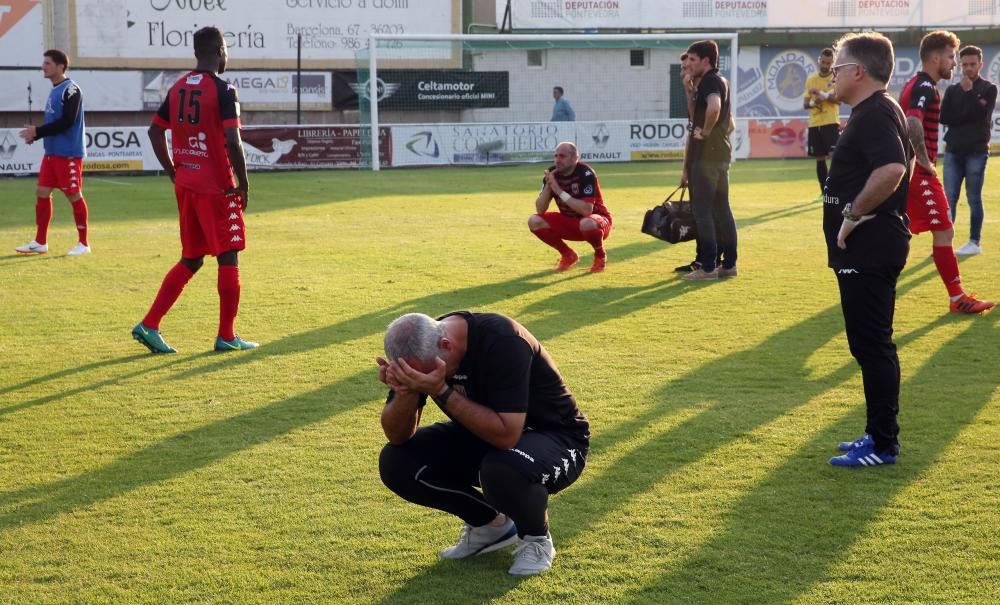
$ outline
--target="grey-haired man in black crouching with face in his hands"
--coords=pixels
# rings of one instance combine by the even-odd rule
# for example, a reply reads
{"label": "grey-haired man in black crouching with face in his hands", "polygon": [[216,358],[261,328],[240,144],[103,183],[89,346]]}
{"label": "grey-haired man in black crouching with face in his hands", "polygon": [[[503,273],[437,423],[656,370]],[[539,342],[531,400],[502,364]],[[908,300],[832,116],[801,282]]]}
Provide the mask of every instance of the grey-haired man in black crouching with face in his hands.
{"label": "grey-haired man in black crouching with face in his hands", "polygon": [[[508,317],[460,311],[396,319],[385,355],[376,360],[391,389],[382,411],[383,483],[465,522],[441,557],[520,538],[510,573],[549,569],[548,497],[580,476],[590,428],[548,352]],[[450,420],[418,428],[428,397]]]}

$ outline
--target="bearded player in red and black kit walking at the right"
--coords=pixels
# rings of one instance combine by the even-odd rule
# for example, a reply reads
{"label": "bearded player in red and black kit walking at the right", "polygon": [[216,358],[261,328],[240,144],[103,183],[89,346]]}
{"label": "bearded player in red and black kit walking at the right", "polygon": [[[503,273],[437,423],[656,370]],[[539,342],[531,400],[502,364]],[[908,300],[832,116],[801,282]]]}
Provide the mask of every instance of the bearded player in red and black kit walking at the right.
{"label": "bearded player in red and black kit walking at the right", "polygon": [[958,259],[952,248],[955,229],[949,216],[948,198],[937,176],[938,119],[941,115],[939,80],[951,80],[957,62],[958,36],[949,31],[931,32],[920,41],[920,71],[913,76],[899,97],[906,112],[910,143],[916,155],[916,167],[910,178],[906,214],[910,232],[930,231],[933,236],[934,265],[937,267],[953,313],[982,313],[993,307],[990,301],[977,300],[962,289]]}

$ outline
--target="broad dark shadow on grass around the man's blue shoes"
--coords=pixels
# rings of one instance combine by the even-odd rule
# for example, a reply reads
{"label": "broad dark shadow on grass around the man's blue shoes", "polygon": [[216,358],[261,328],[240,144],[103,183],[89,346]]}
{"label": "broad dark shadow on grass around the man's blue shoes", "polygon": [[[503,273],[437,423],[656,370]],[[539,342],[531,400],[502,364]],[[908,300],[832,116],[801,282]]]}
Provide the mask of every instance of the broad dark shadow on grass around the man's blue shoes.
{"label": "broad dark shadow on grass around the man's blue shoes", "polygon": [[[853,438],[861,432],[864,412],[851,414],[817,434],[800,451],[789,456],[781,467],[755,484],[728,514],[724,529],[687,554],[679,569],[643,587],[632,602],[738,601],[738,595],[744,598],[753,595],[754,602],[787,603],[802,598],[825,580],[834,579],[831,578],[833,568],[851,556],[851,547],[870,524],[892,515],[890,503],[893,498],[933,466],[993,397],[995,384],[983,379],[981,368],[953,364],[948,381],[965,385],[962,399],[948,401],[947,413],[907,410],[907,399],[918,389],[947,391],[947,382],[941,382],[941,368],[949,361],[991,338],[1000,337],[995,323],[989,325],[974,318],[944,317],[935,325],[963,320],[969,321],[969,325],[935,351],[902,386],[901,409],[904,417],[909,418],[902,426],[901,456],[896,466],[803,469],[802,462],[808,460],[808,456],[816,452],[824,456],[835,455],[838,452],[833,445],[837,441]],[[947,393],[941,395],[946,398]],[[923,425],[920,432],[930,438],[908,443],[908,424],[911,427]],[[803,489],[803,474],[815,476],[807,489]],[[794,510],[790,509],[790,503],[795,503]],[[873,562],[858,561],[858,564],[865,567]],[[873,573],[877,578],[877,572]]]}

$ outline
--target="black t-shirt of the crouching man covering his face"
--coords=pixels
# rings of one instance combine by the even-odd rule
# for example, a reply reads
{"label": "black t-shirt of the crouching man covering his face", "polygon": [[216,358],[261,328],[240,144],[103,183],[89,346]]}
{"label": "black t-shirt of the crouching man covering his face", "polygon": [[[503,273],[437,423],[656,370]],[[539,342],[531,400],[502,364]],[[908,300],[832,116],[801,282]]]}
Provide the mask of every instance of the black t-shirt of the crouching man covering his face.
{"label": "black t-shirt of the crouching man covering his face", "polygon": [[495,412],[527,414],[525,430],[590,439],[590,425],[556,364],[524,326],[497,313],[457,311],[469,324],[465,357],[448,384]]}

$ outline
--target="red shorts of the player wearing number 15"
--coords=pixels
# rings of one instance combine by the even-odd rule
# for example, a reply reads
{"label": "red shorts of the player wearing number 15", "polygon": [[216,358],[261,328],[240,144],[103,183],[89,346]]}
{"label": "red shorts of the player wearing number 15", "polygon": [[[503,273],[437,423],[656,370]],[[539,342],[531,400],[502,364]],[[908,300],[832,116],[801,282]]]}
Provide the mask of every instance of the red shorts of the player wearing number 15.
{"label": "red shorts of the player wearing number 15", "polygon": [[181,222],[181,256],[219,256],[246,248],[243,209],[236,195],[174,187]]}

